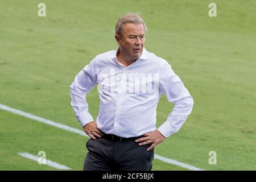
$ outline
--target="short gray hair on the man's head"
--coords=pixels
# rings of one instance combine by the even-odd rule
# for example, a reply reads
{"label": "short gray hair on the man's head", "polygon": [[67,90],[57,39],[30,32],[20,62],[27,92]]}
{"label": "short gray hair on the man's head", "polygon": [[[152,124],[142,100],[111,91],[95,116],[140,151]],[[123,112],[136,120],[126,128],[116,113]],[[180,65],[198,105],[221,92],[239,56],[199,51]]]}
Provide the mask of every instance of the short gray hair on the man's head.
{"label": "short gray hair on the man's head", "polygon": [[142,24],[144,27],[145,33],[147,32],[146,23],[141,18],[141,16],[135,13],[127,13],[123,15],[121,18],[119,18],[117,24],[115,24],[115,34],[121,35],[123,25],[129,22],[135,23],[135,24]]}

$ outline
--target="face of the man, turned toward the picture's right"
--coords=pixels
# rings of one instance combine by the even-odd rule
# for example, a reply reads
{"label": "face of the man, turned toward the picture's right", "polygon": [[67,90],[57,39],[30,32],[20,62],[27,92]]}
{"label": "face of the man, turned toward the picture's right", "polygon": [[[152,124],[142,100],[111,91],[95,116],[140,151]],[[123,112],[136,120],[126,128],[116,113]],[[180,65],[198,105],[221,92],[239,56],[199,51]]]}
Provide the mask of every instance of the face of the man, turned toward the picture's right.
{"label": "face of the man, turned toward the picture's right", "polygon": [[[126,60],[136,60],[142,55],[145,31],[142,24],[126,23],[122,35],[116,35],[117,43]],[[117,37],[118,36],[118,37]]]}

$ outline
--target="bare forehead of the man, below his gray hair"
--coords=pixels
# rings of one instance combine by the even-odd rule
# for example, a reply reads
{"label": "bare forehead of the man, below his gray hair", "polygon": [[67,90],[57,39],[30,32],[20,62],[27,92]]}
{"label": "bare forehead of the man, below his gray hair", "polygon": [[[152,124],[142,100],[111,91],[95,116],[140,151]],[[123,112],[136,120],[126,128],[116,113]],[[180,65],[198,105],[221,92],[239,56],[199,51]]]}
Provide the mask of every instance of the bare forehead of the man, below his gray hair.
{"label": "bare forehead of the man, below his gray hair", "polygon": [[122,27],[124,35],[142,35],[145,33],[143,24],[126,23]]}

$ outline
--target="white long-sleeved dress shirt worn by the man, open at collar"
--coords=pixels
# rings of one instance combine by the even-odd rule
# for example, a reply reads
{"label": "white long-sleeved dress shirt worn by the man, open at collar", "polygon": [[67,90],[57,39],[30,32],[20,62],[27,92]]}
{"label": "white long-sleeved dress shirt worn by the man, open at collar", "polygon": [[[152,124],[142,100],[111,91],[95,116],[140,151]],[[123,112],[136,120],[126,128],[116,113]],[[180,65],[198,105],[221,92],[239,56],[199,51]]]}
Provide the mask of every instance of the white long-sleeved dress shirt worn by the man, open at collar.
{"label": "white long-sleeved dress shirt worn by the man, open at collar", "polygon": [[158,128],[164,137],[176,133],[192,111],[193,98],[168,62],[143,49],[128,67],[117,60],[117,51],[97,55],[70,86],[71,105],[81,126],[94,121],[86,94],[96,84],[100,110],[96,123],[106,134],[137,137],[156,129],[156,106],[162,94],[175,104]]}

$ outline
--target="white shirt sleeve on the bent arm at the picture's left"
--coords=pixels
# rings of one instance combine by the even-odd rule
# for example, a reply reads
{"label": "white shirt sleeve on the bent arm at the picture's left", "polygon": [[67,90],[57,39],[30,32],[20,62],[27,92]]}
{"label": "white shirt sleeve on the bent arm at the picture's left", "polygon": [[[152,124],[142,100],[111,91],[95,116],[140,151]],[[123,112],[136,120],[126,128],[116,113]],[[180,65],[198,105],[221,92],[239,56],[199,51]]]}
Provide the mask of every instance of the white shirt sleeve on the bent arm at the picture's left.
{"label": "white shirt sleeve on the bent arm at the picture's left", "polygon": [[69,86],[71,95],[71,106],[75,111],[76,118],[84,127],[87,123],[94,121],[89,113],[89,106],[86,102],[86,93],[96,85],[97,73],[96,63],[93,59],[90,64],[86,65],[75,77],[75,80]]}

